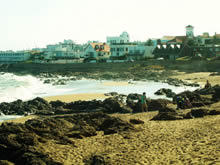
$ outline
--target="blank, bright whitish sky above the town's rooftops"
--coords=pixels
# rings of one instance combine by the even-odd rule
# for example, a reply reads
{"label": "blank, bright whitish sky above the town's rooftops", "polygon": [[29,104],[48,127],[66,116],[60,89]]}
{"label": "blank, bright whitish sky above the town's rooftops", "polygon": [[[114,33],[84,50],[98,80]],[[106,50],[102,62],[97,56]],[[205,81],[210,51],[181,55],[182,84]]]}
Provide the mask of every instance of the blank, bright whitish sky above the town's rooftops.
{"label": "blank, bright whitish sky above the town's rooftops", "polygon": [[44,48],[64,39],[131,41],[220,33],[220,0],[0,0],[0,51]]}

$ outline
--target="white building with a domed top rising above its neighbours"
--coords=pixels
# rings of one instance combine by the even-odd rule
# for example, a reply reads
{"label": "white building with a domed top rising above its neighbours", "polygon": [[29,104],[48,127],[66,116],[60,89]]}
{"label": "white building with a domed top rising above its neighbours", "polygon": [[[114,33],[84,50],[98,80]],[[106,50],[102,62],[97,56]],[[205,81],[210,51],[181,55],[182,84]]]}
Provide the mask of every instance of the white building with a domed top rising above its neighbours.
{"label": "white building with a domed top rising above its neighbours", "polygon": [[123,32],[120,36],[117,37],[107,37],[107,44],[119,44],[119,43],[129,43],[130,37],[127,32]]}

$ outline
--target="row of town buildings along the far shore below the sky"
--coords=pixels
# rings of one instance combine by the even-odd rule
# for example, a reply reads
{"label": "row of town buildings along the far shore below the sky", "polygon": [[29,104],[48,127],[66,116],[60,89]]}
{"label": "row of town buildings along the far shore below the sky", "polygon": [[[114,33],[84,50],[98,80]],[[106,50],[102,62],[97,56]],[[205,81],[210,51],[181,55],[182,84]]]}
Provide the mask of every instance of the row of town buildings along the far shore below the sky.
{"label": "row of town buildings along the far shore below the sky", "polygon": [[163,36],[146,42],[130,41],[127,32],[106,37],[106,42],[88,41],[77,44],[64,40],[46,48],[23,51],[0,51],[0,63],[112,63],[137,60],[189,60],[220,57],[220,34],[204,32],[194,36],[194,27],[188,25],[185,36]]}

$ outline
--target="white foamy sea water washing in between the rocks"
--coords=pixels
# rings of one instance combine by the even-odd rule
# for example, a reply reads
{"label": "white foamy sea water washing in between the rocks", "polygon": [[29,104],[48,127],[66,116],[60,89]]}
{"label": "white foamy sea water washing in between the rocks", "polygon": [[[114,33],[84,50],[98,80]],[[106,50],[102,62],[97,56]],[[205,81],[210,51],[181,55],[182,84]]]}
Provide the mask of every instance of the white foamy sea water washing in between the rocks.
{"label": "white foamy sea water washing in between the rocks", "polygon": [[[66,77],[68,79],[68,77]],[[65,77],[62,77],[65,79]],[[81,79],[67,81],[65,85],[45,84],[45,79],[37,78],[32,75],[15,75],[12,73],[0,72],[0,104],[2,102],[12,102],[17,99],[23,101],[36,97],[80,94],[80,93],[109,93],[117,92],[120,94],[143,93],[146,92],[147,97],[152,99],[166,98],[165,96],[157,96],[154,93],[160,88],[172,89],[175,93],[185,90],[193,91],[196,87],[181,86],[175,87],[167,83],[154,81],[129,81],[128,85],[110,86],[105,85],[111,83],[110,80],[92,80]],[[1,120],[8,120],[17,116],[0,115]]]}

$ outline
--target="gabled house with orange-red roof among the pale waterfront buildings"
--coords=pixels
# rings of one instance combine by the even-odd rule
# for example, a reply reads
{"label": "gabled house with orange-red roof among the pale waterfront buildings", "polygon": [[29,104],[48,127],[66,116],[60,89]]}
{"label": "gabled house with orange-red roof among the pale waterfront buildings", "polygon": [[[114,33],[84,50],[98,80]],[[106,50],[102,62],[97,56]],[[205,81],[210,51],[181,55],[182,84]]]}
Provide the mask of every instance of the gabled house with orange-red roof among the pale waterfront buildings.
{"label": "gabled house with orange-red roof among the pale waterfront buildings", "polygon": [[110,46],[106,43],[90,43],[84,52],[85,58],[94,60],[108,59],[110,55]]}

